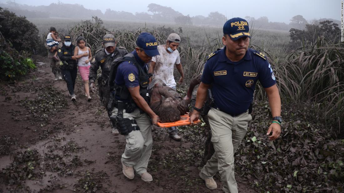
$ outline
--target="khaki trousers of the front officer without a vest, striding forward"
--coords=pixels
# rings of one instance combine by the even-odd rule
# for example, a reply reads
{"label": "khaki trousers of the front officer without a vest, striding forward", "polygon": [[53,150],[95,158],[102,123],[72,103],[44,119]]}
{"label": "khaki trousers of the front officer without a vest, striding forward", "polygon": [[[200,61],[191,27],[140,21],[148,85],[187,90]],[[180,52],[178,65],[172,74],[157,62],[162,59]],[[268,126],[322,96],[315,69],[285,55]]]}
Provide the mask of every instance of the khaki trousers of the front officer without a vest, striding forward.
{"label": "khaki trousers of the front officer without a vest, striding forward", "polygon": [[247,123],[252,120],[248,111],[232,117],[217,109],[208,112],[215,153],[201,170],[202,177],[212,178],[220,173],[223,191],[237,193],[238,186],[234,177],[234,153],[247,132]]}

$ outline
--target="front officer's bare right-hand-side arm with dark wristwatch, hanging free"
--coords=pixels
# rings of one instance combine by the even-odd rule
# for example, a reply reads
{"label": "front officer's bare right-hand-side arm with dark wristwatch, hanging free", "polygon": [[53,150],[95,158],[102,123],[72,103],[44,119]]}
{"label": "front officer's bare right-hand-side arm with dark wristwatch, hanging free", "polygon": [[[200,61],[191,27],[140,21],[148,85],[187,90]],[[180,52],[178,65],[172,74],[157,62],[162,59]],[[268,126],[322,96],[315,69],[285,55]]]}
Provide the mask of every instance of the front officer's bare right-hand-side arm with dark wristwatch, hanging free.
{"label": "front officer's bare right-hand-side arm with dark wristwatch, hanging free", "polygon": [[[281,98],[276,84],[269,88],[265,88],[265,92],[269,98],[269,105],[272,117],[281,116]],[[271,123],[267,135],[269,135],[271,131],[272,135],[269,136],[269,140],[276,140],[281,134],[281,126],[278,123]]]}

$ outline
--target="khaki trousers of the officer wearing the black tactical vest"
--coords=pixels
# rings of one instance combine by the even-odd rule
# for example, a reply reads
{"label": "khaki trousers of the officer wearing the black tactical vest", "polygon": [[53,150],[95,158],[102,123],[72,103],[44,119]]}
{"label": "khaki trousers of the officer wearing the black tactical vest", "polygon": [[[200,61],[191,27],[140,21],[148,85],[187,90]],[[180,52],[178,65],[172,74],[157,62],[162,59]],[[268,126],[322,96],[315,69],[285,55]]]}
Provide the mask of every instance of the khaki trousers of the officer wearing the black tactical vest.
{"label": "khaki trousers of the officer wearing the black tactical vest", "polygon": [[[116,115],[117,112],[118,109],[114,108],[111,113]],[[140,113],[137,108],[131,113],[123,110],[123,118],[135,119],[140,130],[125,135],[127,144],[121,161],[128,167],[134,167],[136,173],[142,174],[147,172],[148,161],[152,154],[153,139],[150,117],[147,113]]]}

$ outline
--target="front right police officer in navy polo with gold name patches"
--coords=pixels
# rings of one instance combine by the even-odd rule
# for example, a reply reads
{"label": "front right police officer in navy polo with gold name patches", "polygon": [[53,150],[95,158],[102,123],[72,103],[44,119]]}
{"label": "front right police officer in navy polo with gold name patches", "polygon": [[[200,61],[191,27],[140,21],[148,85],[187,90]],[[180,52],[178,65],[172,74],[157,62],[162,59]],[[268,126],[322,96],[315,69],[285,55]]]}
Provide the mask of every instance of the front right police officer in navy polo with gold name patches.
{"label": "front right police officer in navy polo with gold name patches", "polygon": [[224,192],[238,192],[234,178],[234,153],[247,132],[252,119],[248,108],[257,81],[264,87],[271,108],[269,140],[281,133],[281,100],[275,75],[265,55],[248,49],[250,34],[248,23],[241,18],[228,20],[223,26],[222,42],[225,47],[209,55],[205,63],[196,104],[190,121],[198,119],[199,111],[212,86],[215,105],[208,112],[215,154],[203,166],[200,177],[209,189],[216,189],[213,176],[219,172]]}

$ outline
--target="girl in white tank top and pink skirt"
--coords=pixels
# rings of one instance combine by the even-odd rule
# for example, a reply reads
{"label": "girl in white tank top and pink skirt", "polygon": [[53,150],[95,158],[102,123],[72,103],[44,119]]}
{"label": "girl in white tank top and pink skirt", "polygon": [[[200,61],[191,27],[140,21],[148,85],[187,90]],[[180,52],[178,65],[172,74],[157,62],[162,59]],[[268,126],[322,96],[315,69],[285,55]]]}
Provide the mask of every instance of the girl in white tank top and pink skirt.
{"label": "girl in white tank top and pink skirt", "polygon": [[78,37],[76,39],[76,44],[78,45],[74,50],[74,56],[78,57],[78,69],[81,78],[84,81],[85,87],[85,96],[87,96],[87,101],[91,101],[89,96],[89,87],[88,87],[88,74],[89,68],[91,67],[90,61],[92,60],[92,53],[89,47],[86,47],[86,40],[83,37]]}

